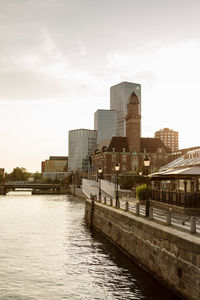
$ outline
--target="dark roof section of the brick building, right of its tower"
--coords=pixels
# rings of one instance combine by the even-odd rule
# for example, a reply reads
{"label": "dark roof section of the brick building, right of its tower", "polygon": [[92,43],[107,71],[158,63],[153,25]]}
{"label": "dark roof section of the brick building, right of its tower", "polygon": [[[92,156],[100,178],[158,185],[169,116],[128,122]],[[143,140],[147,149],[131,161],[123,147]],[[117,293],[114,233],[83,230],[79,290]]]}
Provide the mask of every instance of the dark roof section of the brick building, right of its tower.
{"label": "dark roof section of the brick building, right of its tower", "polygon": [[166,153],[171,153],[171,149],[159,138],[140,138],[140,152],[155,153],[158,148],[164,148]]}

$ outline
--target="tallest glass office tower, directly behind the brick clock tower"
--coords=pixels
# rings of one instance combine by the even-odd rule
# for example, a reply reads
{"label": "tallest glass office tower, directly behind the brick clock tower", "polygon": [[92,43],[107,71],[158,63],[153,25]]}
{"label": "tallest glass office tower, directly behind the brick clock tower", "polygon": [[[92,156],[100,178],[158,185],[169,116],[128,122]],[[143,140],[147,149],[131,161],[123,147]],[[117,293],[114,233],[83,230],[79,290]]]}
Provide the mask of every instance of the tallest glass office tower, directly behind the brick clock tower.
{"label": "tallest glass office tower, directly behind the brick clock tower", "polygon": [[[126,136],[125,116],[127,114],[127,102],[132,93],[139,100],[139,114],[141,115],[141,85],[132,82],[121,82],[110,88],[110,109],[117,111],[117,136]],[[141,133],[140,133],[141,134]]]}

